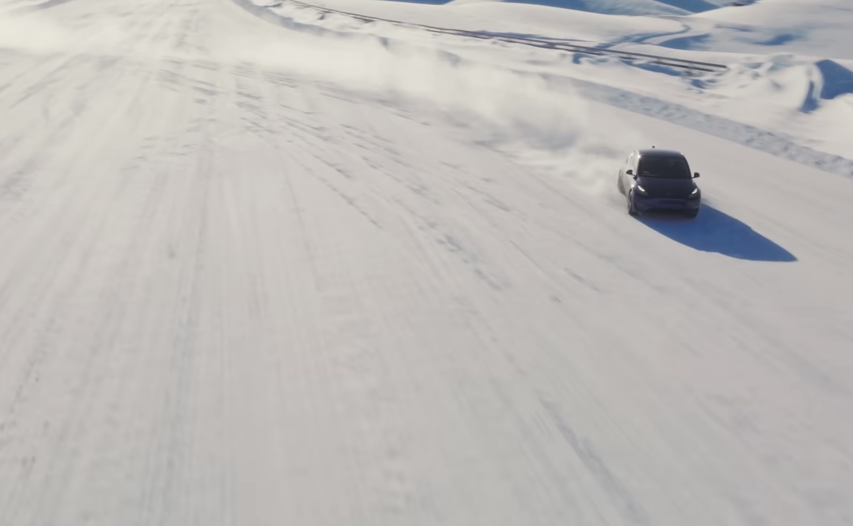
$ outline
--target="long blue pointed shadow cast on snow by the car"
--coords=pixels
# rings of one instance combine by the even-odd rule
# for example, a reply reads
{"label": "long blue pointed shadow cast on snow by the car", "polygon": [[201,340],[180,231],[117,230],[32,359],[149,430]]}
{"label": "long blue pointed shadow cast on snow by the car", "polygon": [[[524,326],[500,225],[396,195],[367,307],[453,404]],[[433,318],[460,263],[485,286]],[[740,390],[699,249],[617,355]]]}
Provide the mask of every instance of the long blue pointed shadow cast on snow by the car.
{"label": "long blue pointed shadow cast on snow by the car", "polygon": [[667,212],[647,212],[638,220],[670,240],[699,251],[750,261],[797,261],[791,252],[758,234],[746,223],[704,203],[695,219]]}

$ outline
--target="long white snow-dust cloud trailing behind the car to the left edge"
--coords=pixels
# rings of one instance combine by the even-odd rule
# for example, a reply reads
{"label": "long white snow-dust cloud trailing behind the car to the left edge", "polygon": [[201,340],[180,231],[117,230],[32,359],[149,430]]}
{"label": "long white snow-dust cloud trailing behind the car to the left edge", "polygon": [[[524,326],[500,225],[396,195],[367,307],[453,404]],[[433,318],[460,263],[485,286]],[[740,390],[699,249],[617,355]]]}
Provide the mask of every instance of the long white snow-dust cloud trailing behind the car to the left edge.
{"label": "long white snow-dust cloud trailing behind the car to the left edge", "polygon": [[[188,50],[166,41],[131,38],[124,24],[114,20],[92,33],[58,26],[38,13],[15,20],[0,17],[0,45],[44,52],[243,62],[374,93],[391,104],[423,101],[439,116],[472,130],[475,140],[537,171],[571,177],[592,190],[612,185],[614,166],[636,144],[630,131],[611,124],[606,108],[592,105],[567,83],[467,61],[438,48],[316,27],[313,30],[319,34],[312,35],[301,27],[287,31],[257,26],[254,32],[222,34],[206,49]],[[282,38],[286,31],[287,38]]]}

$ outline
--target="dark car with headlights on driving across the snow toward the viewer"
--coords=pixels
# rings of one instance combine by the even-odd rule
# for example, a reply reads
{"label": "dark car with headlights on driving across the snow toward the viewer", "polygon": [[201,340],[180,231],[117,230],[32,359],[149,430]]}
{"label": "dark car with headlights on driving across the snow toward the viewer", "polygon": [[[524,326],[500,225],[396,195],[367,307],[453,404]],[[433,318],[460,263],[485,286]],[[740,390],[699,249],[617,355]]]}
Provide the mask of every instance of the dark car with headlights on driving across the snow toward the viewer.
{"label": "dark car with headlights on driving across the snow toward the viewer", "polygon": [[619,169],[619,192],[628,201],[632,216],[649,210],[682,211],[688,217],[699,214],[702,193],[690,173],[688,159],[680,152],[655,147],[634,150]]}

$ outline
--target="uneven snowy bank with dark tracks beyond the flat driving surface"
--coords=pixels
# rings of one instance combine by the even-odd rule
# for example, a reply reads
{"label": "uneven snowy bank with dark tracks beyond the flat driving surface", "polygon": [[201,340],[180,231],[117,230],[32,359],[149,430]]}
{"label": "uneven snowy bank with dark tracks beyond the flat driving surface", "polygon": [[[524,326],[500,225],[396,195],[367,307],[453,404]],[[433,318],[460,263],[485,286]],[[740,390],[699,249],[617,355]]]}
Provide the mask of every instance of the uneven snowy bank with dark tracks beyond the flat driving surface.
{"label": "uneven snowy bank with dark tracks beyond the flat driving surface", "polygon": [[[382,0],[314,0],[314,3],[320,7],[286,1],[270,8],[270,13],[276,14],[278,20],[290,20],[306,27],[322,27],[351,35],[380,35],[393,41],[416,42],[427,47],[439,45],[429,32],[413,32],[411,26],[366,21],[360,15],[353,17],[327,9],[345,8],[350,9],[349,12],[381,20],[473,31],[480,37],[480,32],[489,31],[513,38],[556,38],[562,42],[604,49],[726,65],[726,71],[685,77],[683,70],[655,65],[643,59],[633,61],[630,67],[625,68],[622,67],[623,61],[614,62],[608,57],[591,59],[589,55],[571,51],[508,46],[489,39],[466,39],[464,35],[440,41],[442,49],[450,49],[454,54],[474,61],[506,65],[508,56],[512,56],[509,61],[514,68],[591,80],[606,84],[607,88],[628,92],[631,97],[646,95],[663,101],[677,101],[691,111],[704,113],[705,117],[733,119],[766,130],[785,142],[853,159],[853,142],[847,139],[850,136],[848,116],[853,107],[853,61],[776,53],[778,48],[769,45],[763,45],[767,52],[765,55],[734,52],[731,49],[738,49],[734,41],[722,50],[693,49],[696,46],[679,42],[704,41],[709,32],[720,31],[717,23],[693,16],[613,15],[499,2],[452,6]],[[730,9],[746,7],[750,6]],[[721,10],[732,12],[717,9],[715,13]],[[833,4],[813,5],[812,11],[812,20],[827,19],[834,12]],[[850,26],[853,26],[853,20],[850,20]],[[738,32],[741,39],[751,38],[752,41],[744,44],[744,51],[757,45],[757,40],[772,38],[764,29],[757,27],[739,26]],[[815,30],[815,34],[818,33]],[[656,105],[660,107],[659,101]],[[646,111],[647,107],[646,102],[631,103],[630,109]],[[683,113],[682,108],[676,107],[664,111],[670,115],[673,112]],[[746,140],[753,142],[753,136],[751,134]]]}

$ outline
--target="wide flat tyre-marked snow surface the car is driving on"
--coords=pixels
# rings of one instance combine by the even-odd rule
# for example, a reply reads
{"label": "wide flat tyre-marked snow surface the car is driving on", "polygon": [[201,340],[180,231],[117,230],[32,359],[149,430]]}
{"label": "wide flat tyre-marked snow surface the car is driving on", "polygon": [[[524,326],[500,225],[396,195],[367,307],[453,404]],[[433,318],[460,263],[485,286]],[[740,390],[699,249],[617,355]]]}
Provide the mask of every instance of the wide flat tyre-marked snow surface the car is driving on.
{"label": "wide flat tyre-marked snow surface the car is driving on", "polygon": [[[853,520],[853,179],[818,153],[451,38],[21,5],[3,526]],[[695,222],[624,213],[650,144]]]}

